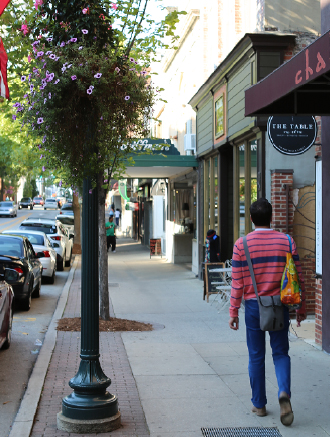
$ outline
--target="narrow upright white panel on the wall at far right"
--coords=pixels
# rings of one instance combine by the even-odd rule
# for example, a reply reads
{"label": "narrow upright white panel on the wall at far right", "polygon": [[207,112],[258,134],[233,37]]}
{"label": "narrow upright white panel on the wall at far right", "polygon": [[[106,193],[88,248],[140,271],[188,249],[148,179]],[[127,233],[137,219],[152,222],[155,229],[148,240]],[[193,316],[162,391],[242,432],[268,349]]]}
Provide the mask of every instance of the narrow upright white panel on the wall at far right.
{"label": "narrow upright white panel on the wall at far right", "polygon": [[315,162],[315,272],[322,275],[322,160]]}

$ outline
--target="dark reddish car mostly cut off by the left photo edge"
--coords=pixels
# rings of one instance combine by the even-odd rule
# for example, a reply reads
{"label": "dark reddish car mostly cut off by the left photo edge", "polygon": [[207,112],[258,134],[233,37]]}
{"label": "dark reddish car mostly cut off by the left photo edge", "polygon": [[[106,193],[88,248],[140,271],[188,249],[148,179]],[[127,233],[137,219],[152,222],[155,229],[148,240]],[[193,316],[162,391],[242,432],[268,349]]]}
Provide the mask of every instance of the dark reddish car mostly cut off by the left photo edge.
{"label": "dark reddish car mostly cut off by the left photo edge", "polygon": [[[6,277],[6,271],[0,280],[0,349],[9,348],[13,326],[14,292],[13,287],[3,280]],[[10,271],[8,273],[10,274]]]}

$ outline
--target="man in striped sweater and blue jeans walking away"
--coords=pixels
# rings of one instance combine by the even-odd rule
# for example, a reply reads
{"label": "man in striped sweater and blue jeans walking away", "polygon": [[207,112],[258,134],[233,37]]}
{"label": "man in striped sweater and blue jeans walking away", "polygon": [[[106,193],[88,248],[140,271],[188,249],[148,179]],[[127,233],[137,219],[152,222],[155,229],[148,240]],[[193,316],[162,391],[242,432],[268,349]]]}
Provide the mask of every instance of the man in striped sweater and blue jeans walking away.
{"label": "man in striped sweater and blue jeans walking away", "polygon": [[[250,207],[251,220],[255,230],[247,235],[247,245],[260,296],[280,294],[281,278],[285,268],[286,254],[290,252],[288,236],[270,228],[272,206],[266,199],[258,199]],[[306,319],[304,279],[292,237],[292,255],[298,271],[302,288],[302,306],[296,311],[297,325]],[[238,311],[242,297],[245,300],[246,341],[249,351],[249,377],[252,389],[252,412],[257,416],[266,416],[265,382],[265,332],[260,329],[259,306],[243,247],[243,238],[239,238],[233,251],[232,288],[229,309],[229,327],[239,328]],[[289,356],[289,310],[284,307],[284,328],[269,331],[273,362],[278,384],[280,419],[283,425],[293,422],[291,407],[291,364]]]}

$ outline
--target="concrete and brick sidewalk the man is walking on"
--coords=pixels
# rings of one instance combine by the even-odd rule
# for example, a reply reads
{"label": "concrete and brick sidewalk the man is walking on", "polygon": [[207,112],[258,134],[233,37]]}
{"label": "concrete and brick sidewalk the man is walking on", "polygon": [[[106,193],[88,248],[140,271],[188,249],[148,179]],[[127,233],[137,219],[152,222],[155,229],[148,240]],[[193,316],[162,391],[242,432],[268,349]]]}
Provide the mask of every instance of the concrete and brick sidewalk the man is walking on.
{"label": "concrete and brick sidewalk the man is walking on", "polygon": [[[283,437],[330,435],[327,354],[290,336],[295,420],[286,428],[279,420],[268,346],[268,416],[258,418],[251,413],[244,313],[239,331],[231,331],[228,311],[218,313],[213,296],[210,303],[203,301],[202,282],[185,266],[150,259],[131,239],[117,242],[116,253],[108,255],[114,314],[155,329],[100,334],[101,366],[122,414],[122,428],[111,436],[202,437],[202,427],[277,427]],[[79,315],[78,263],[63,316]],[[294,329],[312,340],[312,321],[308,324]],[[71,393],[68,382],[78,369],[79,352],[80,333],[58,332],[31,436],[77,435],[57,430],[56,414]]]}

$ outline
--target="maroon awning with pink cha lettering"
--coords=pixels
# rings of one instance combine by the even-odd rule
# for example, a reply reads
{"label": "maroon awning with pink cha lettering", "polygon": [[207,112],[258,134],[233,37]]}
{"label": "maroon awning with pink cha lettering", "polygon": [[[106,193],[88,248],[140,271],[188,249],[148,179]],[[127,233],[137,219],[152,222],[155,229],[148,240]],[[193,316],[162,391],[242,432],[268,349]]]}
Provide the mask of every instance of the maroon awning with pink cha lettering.
{"label": "maroon awning with pink cha lettering", "polygon": [[245,116],[329,115],[330,32],[245,91]]}

